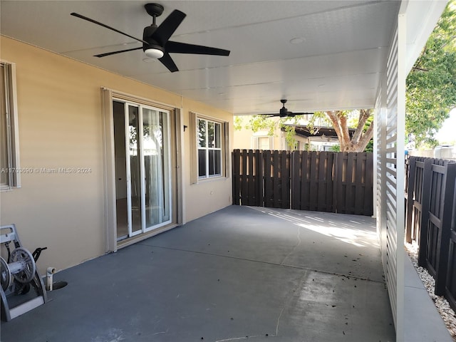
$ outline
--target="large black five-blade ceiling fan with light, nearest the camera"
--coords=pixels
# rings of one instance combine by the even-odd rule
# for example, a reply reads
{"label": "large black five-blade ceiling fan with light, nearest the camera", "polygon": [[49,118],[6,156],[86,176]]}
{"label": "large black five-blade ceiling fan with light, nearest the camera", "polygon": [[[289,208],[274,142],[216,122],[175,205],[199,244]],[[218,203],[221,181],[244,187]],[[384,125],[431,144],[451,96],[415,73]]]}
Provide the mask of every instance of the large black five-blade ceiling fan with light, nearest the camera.
{"label": "large black five-blade ceiling fan with light, nearest the camera", "polygon": [[211,48],[209,46],[169,41],[172,33],[176,31],[177,27],[182,23],[182,21],[185,19],[185,16],[187,15],[175,9],[169,16],[167,16],[167,18],[162,22],[162,24],[160,24],[160,26],[157,26],[157,24],[155,24],[155,19],[157,16],[160,16],[163,13],[163,6],[160,4],[145,4],[144,7],[147,11],[147,14],[152,16],[153,21],[152,25],[146,26],[144,28],[142,39],[130,36],[128,33],[119,31],[116,28],[102,24],[99,21],[90,19],[81,14],[73,12],[71,15],[76,16],[80,19],[84,19],[86,21],[90,21],[93,24],[109,28],[112,31],[123,34],[124,36],[128,36],[142,43],[142,46],[138,48],[128,48],[126,50],[100,53],[94,57],[105,57],[114,55],[116,53],[140,50],[142,48],[147,57],[157,58],[164,66],[168,68],[169,71],[174,73],[175,71],[179,71],[179,69],[177,68],[175,62],[172,60],[170,53],[194,53],[198,55],[229,56],[230,51],[224,50],[222,48]]}

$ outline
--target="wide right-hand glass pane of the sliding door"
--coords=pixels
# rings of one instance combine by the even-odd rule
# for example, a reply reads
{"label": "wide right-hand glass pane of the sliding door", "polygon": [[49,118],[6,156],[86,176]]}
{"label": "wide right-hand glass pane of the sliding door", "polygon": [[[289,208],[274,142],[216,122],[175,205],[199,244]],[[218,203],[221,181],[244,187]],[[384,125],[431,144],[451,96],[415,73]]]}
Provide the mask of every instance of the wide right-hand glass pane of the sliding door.
{"label": "wide right-hand glass pane of the sliding door", "polygon": [[145,228],[170,220],[170,167],[167,113],[142,108]]}

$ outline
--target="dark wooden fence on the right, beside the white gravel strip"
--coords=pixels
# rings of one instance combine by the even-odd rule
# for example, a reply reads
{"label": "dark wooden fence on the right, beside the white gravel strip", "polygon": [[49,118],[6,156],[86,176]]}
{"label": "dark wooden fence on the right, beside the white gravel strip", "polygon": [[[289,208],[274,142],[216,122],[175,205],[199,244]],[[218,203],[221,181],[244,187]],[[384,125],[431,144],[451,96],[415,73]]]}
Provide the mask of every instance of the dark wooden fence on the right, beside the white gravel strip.
{"label": "dark wooden fence on the right, beside the white gravel strip", "polygon": [[456,310],[456,163],[410,157],[406,170],[405,239],[417,242],[418,264],[435,279],[435,294]]}

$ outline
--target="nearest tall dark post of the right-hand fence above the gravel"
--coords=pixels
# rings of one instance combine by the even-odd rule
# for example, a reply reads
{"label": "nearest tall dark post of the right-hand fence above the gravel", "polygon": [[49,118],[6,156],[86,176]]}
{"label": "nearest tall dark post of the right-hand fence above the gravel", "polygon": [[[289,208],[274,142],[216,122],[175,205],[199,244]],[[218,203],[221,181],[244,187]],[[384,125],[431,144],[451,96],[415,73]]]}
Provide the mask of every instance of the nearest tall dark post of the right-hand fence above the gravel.
{"label": "nearest tall dark post of the right-hand fence above the gravel", "polygon": [[439,253],[437,255],[437,276],[435,279],[435,294],[442,296],[445,294],[447,282],[448,252],[450,249],[450,234],[453,211],[453,195],[455,191],[456,164],[448,163],[445,167],[445,194],[443,195],[442,215],[440,217],[442,227],[440,229],[440,239],[438,241]]}

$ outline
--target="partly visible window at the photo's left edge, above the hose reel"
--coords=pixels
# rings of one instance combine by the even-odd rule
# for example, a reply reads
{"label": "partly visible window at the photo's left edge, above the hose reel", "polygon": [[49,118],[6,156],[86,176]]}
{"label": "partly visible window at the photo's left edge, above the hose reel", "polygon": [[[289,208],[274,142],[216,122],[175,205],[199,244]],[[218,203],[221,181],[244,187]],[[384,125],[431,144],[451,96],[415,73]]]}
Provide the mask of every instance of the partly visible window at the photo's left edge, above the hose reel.
{"label": "partly visible window at the photo's left edge, above the hose reel", "polygon": [[21,187],[16,65],[0,61],[0,190]]}

